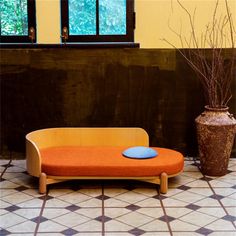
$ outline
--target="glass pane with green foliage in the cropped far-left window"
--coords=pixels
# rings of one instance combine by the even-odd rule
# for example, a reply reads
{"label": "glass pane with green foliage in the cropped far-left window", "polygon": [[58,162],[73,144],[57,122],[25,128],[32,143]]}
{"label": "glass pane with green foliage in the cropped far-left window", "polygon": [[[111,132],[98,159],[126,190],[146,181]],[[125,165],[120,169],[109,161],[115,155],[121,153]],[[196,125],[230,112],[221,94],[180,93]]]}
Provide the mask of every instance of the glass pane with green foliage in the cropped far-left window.
{"label": "glass pane with green foliage in the cropped far-left window", "polygon": [[27,0],[0,1],[1,35],[28,35]]}

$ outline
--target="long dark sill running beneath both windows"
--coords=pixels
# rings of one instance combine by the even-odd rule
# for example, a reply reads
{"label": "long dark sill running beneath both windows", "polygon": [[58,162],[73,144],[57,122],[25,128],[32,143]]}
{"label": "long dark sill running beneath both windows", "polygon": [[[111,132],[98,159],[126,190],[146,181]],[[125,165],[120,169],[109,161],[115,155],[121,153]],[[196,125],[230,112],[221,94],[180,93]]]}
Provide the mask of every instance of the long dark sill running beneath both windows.
{"label": "long dark sill running beneath both windows", "polygon": [[60,44],[37,44],[37,43],[1,43],[0,48],[139,48],[139,43],[133,42],[95,42],[95,43],[60,43]]}

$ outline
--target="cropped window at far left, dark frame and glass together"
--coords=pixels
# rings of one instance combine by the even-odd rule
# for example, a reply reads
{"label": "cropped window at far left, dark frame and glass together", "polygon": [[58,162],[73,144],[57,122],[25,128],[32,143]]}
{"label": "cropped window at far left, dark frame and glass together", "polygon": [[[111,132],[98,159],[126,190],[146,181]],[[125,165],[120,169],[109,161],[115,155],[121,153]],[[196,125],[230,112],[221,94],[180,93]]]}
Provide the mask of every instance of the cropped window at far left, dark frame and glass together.
{"label": "cropped window at far left, dark frame and glass together", "polygon": [[35,0],[0,1],[1,43],[35,42]]}

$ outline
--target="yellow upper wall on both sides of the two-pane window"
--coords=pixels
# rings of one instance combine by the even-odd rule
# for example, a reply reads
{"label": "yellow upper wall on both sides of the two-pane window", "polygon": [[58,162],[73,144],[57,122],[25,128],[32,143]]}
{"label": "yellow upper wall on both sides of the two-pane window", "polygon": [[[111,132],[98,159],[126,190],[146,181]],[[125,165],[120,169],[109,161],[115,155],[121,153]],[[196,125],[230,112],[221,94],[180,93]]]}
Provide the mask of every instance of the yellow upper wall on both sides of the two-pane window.
{"label": "yellow upper wall on both sides of the two-pane window", "polygon": [[[193,13],[196,9],[195,25],[198,37],[211,21],[216,0],[180,0]],[[236,0],[228,0],[236,27]],[[135,42],[141,48],[171,48],[165,38],[181,47],[178,37],[169,29],[189,38],[189,22],[186,13],[176,0],[135,0],[136,30]],[[220,0],[219,14],[225,14],[224,0]],[[36,0],[37,41],[38,43],[60,43],[60,0]],[[200,39],[199,39],[200,40]],[[229,45],[227,45],[229,46]]]}

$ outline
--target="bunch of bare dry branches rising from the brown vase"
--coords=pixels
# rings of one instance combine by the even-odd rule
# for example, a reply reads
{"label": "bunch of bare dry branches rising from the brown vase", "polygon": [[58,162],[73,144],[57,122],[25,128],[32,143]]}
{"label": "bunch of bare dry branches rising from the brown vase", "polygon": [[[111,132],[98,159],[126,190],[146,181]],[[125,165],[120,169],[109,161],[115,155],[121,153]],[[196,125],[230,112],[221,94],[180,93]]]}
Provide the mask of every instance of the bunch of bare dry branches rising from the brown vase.
{"label": "bunch of bare dry branches rising from the brown vase", "polygon": [[[179,6],[186,13],[190,25],[190,37],[182,35],[182,25],[180,33],[176,32],[169,24],[169,29],[179,38],[182,49],[166,39],[166,43],[174,47],[187,61],[200,79],[208,104],[211,107],[227,106],[232,97],[231,81],[235,72],[235,28],[232,15],[230,13],[228,0],[225,0],[226,15],[217,17],[219,0],[216,0],[212,14],[212,22],[206,25],[206,30],[201,34],[200,43],[196,34],[195,13],[191,15],[189,10],[177,0]],[[226,45],[231,48],[226,49]],[[184,44],[189,48],[184,49]],[[207,46],[209,50],[207,50]],[[225,52],[230,51],[228,55]],[[226,56],[230,56],[226,59]]]}

